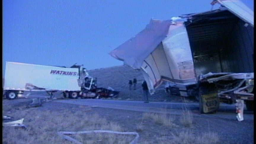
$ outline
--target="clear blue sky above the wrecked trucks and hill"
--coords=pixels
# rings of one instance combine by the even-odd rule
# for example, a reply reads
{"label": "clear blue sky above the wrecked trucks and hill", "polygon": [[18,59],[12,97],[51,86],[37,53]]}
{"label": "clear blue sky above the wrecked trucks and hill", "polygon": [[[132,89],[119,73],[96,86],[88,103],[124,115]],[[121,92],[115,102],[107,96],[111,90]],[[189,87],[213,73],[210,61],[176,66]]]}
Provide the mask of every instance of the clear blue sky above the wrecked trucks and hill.
{"label": "clear blue sky above the wrecked trucks and hill", "polygon": [[[243,1],[253,10],[253,0]],[[108,55],[149,23],[209,11],[212,0],[4,0],[5,62],[97,69],[123,65]],[[214,5],[217,9],[219,5]]]}

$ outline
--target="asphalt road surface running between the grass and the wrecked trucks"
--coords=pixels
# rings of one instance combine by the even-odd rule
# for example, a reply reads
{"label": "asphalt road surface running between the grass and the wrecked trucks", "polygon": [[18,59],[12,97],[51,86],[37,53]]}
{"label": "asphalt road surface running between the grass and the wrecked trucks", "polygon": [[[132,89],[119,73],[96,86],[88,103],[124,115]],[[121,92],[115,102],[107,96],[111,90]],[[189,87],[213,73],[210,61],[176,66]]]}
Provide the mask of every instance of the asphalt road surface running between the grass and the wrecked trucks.
{"label": "asphalt road surface running between the grass and the wrecked trucks", "polygon": [[[143,103],[141,101],[125,101],[125,100],[100,100],[100,99],[67,99],[56,100],[57,103],[68,103],[76,105],[97,106],[102,108],[115,108],[131,111],[143,112],[166,112],[180,115],[184,108],[192,111],[194,116],[213,117],[222,119],[236,119],[236,106],[221,104],[219,110],[215,114],[200,114],[198,103],[173,103],[173,102],[149,102]],[[167,109],[167,110],[165,110]],[[253,120],[254,114],[250,111],[244,111],[244,119]]]}

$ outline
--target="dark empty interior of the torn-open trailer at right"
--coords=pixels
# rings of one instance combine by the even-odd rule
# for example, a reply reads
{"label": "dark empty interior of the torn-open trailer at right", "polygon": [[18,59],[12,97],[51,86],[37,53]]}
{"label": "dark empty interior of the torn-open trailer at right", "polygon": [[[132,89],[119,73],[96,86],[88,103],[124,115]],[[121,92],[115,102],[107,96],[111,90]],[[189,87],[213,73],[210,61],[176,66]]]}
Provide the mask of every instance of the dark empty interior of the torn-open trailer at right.
{"label": "dark empty interior of the torn-open trailer at right", "polygon": [[254,72],[254,27],[228,10],[192,14],[185,22],[196,76]]}

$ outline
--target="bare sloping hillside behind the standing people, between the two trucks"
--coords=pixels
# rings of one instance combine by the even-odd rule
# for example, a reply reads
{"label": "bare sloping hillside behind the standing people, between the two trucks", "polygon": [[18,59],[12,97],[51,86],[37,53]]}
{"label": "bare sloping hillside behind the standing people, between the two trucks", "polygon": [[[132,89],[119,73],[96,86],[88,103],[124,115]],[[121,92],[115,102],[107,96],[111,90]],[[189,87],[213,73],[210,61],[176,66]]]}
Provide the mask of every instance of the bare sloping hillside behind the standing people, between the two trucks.
{"label": "bare sloping hillside behind the standing people, between the two trucks", "polygon": [[[141,71],[134,70],[129,66],[120,65],[115,67],[88,70],[92,77],[97,78],[98,87],[111,87],[120,91],[118,98],[121,100],[143,101],[143,90],[141,87],[144,81]],[[129,90],[129,79],[137,79],[137,89]],[[164,84],[156,89],[156,92],[149,96],[149,101],[182,101],[183,97],[171,96],[165,93]]]}

